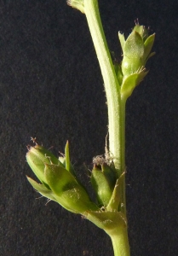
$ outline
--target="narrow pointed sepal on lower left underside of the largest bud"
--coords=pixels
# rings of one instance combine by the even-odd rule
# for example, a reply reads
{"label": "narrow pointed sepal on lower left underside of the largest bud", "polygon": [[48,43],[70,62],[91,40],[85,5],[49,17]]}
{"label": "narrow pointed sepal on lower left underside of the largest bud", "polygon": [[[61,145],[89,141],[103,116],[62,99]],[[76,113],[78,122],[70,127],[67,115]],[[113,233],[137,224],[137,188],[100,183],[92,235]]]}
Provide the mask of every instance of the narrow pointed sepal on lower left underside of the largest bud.
{"label": "narrow pointed sepal on lower left underside of the largest bud", "polygon": [[47,189],[43,184],[39,184],[36,181],[34,181],[31,177],[27,177],[29,183],[31,183],[33,189],[36,189],[37,192],[39,192],[44,197],[49,198],[52,201],[57,201],[55,199],[54,193],[51,189]]}

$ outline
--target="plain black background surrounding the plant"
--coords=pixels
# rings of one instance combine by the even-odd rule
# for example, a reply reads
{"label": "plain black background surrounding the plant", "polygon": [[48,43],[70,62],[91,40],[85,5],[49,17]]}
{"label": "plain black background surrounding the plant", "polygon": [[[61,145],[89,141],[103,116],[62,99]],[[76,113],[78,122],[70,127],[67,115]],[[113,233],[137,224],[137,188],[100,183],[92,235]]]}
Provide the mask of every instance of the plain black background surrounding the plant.
{"label": "plain black background surrounding the plant", "polygon": [[[132,256],[178,253],[178,3],[100,0],[109,48],[134,20],[156,32],[157,55],[127,102],[126,163]],[[46,205],[26,180],[31,137],[53,152],[70,141],[88,184],[92,157],[104,153],[107,112],[100,67],[85,16],[65,0],[0,1],[0,255],[112,255],[103,230]]]}

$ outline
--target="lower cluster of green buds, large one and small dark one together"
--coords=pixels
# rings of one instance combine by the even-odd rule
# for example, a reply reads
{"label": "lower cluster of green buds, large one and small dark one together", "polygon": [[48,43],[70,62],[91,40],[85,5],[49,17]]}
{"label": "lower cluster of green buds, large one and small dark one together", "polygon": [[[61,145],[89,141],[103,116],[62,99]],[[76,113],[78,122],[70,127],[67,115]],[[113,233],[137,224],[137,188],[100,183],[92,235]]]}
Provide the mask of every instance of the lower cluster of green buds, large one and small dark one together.
{"label": "lower cluster of green buds, large one and small dark one together", "polygon": [[40,183],[31,177],[27,179],[44,197],[58,202],[70,212],[82,214],[104,230],[111,229],[111,225],[106,220],[116,218],[118,222],[120,218],[122,223],[125,221],[121,213],[121,187],[124,173],[118,177],[113,163],[110,165],[103,161],[94,165],[90,177],[96,194],[96,202],[94,202],[91,201],[83,184],[78,181],[70,161],[68,142],[65,155],[59,159],[36,143],[34,147],[28,148],[26,160]]}

